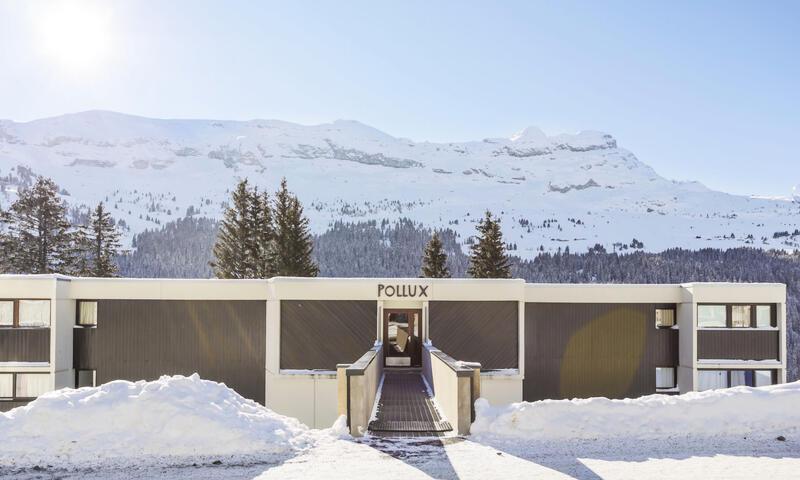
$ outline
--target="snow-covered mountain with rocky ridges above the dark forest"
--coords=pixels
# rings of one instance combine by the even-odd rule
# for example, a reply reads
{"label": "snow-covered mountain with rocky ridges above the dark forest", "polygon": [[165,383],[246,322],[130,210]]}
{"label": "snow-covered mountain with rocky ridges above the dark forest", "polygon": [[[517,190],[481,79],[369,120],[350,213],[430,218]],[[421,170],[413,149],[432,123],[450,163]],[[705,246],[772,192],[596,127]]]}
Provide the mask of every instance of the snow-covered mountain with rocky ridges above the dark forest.
{"label": "snow-covered mountain with rocky ridges above the dark forest", "polygon": [[335,220],[409,217],[466,240],[490,209],[523,257],[542,247],[611,250],[633,238],[647,250],[800,246],[800,236],[775,237],[800,226],[797,203],[665,179],[600,132],[547,136],[531,127],[510,138],[431,143],[343,120],[304,126],[90,111],[0,121],[0,205],[31,172],[52,177],[72,206],[106,201],[128,240],[187,211],[219,217],[240,178],[274,190],[285,176],[316,232]]}

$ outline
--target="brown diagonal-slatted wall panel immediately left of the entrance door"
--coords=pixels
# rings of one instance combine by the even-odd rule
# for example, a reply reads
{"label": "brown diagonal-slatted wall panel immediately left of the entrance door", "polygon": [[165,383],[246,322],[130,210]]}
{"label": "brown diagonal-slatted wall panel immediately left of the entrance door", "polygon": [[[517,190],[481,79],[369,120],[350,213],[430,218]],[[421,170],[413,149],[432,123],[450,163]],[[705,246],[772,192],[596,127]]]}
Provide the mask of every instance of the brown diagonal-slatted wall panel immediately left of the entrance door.
{"label": "brown diagonal-slatted wall panel immediately left of the entrance door", "polygon": [[375,344],[378,303],[282,300],[281,368],[336,370]]}

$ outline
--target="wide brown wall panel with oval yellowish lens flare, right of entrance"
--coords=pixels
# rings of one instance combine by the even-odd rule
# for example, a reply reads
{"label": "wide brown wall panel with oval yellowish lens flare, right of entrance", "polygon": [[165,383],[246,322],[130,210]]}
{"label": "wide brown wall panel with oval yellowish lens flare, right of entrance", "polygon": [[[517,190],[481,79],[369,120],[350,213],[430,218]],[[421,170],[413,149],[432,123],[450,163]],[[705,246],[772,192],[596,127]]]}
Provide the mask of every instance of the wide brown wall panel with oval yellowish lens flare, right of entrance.
{"label": "wide brown wall panel with oval yellowish lens flare, right of entrance", "polygon": [[656,367],[678,364],[678,331],[655,327],[656,306],[526,304],[523,399],[655,393]]}

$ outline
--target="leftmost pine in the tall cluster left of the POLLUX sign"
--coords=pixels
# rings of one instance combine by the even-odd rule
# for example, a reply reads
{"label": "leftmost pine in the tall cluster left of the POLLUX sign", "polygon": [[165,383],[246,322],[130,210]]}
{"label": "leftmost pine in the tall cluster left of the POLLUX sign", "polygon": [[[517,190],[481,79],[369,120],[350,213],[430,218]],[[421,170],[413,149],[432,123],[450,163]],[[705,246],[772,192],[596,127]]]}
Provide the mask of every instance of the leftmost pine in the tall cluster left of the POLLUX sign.
{"label": "leftmost pine in the tall cluster left of the POLLUX sign", "polygon": [[231,201],[219,227],[211,267],[217,278],[253,278],[252,201],[247,179],[236,186]]}

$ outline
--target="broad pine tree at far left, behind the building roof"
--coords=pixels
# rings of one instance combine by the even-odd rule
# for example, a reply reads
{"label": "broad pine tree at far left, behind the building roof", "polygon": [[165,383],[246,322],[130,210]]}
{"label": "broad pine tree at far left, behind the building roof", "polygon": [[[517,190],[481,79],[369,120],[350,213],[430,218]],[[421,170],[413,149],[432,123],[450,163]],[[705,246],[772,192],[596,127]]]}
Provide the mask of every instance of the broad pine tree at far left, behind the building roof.
{"label": "broad pine tree at far left, behind the building roof", "polygon": [[74,244],[67,208],[49,178],[20,191],[7,214],[6,245],[17,273],[72,273]]}

